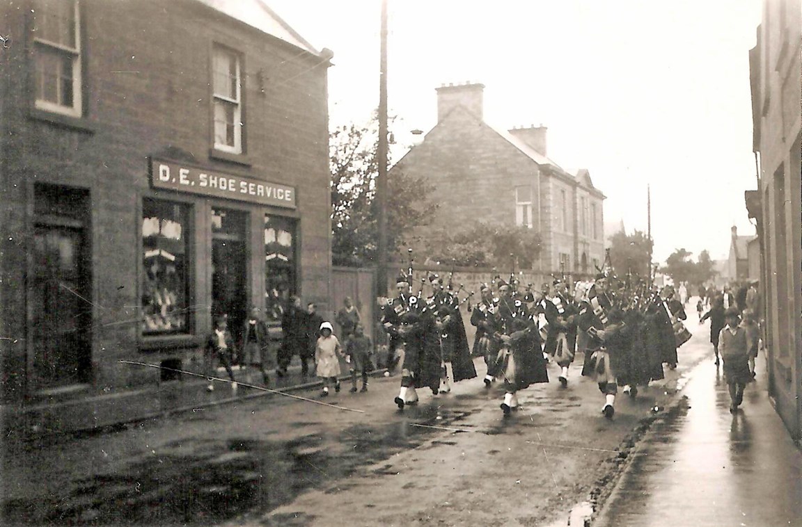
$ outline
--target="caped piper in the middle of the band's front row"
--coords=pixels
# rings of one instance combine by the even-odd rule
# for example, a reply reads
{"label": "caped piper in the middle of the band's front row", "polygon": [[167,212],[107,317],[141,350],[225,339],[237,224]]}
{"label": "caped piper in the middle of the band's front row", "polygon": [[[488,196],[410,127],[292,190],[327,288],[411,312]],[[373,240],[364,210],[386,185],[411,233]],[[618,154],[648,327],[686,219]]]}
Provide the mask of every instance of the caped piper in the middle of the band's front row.
{"label": "caped piper in the middle of the band's front row", "polygon": [[499,352],[496,356],[497,374],[504,379],[505,416],[519,407],[518,390],[529,384],[549,382],[549,373],[538,344],[537,323],[523,302],[513,300],[510,287],[499,284],[499,305],[493,317]]}

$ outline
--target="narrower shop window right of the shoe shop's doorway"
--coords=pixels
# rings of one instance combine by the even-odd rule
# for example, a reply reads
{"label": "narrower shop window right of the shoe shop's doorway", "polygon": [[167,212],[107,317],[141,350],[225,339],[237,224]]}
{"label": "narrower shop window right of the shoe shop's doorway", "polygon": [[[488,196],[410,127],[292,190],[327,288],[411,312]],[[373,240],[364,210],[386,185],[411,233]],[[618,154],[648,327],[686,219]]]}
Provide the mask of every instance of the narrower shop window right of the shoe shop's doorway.
{"label": "narrower shop window right of the shoe shop's doorway", "polygon": [[265,312],[268,320],[281,320],[297,291],[298,239],[294,219],[265,215]]}

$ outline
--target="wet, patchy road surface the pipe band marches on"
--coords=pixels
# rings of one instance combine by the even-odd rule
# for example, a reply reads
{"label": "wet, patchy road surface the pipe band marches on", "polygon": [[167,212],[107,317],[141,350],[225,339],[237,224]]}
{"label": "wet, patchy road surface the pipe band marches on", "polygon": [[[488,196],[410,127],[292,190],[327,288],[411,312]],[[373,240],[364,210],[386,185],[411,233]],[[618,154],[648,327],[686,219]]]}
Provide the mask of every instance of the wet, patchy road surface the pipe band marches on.
{"label": "wet, patchy road surface the pipe band marches on", "polygon": [[393,377],[326,399],[364,413],[265,396],[6,445],[3,525],[545,525],[613,481],[622,445],[709,353],[704,332],[613,421],[578,355],[569,388],[550,364],[507,419],[481,377],[398,412]]}

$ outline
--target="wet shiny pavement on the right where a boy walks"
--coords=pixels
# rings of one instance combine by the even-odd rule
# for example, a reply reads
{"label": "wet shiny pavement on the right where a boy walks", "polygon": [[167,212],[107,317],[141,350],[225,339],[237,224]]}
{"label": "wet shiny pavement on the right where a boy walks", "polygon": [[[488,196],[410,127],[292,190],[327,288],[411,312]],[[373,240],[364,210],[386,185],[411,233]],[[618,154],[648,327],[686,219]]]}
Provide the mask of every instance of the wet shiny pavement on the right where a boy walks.
{"label": "wet shiny pavement on the right where a boy walks", "polygon": [[[706,326],[709,328],[709,326]],[[766,357],[729,412],[721,368],[694,368],[681,398],[630,454],[593,527],[802,525],[802,452],[772,407]]]}

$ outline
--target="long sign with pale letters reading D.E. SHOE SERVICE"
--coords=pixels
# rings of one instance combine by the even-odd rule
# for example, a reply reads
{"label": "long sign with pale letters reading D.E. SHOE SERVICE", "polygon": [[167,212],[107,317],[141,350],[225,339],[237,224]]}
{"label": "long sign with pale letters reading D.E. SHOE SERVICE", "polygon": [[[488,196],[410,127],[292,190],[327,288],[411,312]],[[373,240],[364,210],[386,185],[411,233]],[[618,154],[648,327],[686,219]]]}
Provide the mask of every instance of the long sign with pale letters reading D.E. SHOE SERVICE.
{"label": "long sign with pale letters reading D.E. SHOE SERVICE", "polygon": [[273,207],[296,207],[295,187],[160,159],[151,159],[150,168],[153,188],[239,199]]}

